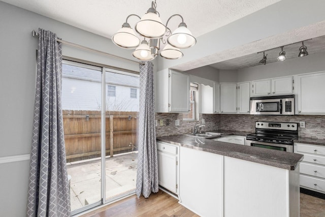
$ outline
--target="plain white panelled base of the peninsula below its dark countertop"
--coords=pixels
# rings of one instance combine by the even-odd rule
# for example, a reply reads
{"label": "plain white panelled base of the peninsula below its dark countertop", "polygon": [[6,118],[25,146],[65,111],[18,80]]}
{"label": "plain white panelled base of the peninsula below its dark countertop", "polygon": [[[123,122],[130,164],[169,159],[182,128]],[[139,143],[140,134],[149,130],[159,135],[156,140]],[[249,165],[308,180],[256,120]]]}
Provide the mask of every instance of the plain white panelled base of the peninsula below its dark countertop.
{"label": "plain white panelled base of the peninsula below its dark countertop", "polygon": [[180,147],[180,204],[205,217],[299,216],[299,166],[285,170]]}

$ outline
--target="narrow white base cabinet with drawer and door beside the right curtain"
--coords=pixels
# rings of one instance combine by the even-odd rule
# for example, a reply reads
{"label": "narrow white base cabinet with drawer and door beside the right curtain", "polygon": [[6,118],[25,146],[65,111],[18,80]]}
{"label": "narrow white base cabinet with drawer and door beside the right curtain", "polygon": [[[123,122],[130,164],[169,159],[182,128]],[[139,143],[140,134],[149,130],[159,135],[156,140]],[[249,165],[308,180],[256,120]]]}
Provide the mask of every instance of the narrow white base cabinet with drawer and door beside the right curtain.
{"label": "narrow white base cabinet with drawer and door beside the right curtain", "polygon": [[157,141],[159,185],[175,194],[178,194],[178,149],[177,145]]}

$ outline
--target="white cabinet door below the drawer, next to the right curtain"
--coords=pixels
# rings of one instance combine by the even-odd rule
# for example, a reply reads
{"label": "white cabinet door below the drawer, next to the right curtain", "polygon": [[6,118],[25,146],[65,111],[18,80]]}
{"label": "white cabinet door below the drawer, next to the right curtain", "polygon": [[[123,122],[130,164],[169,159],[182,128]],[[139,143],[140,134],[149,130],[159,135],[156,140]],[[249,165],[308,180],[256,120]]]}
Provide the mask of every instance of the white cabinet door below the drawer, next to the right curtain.
{"label": "white cabinet door below the drawer, next to the right curtain", "polygon": [[177,156],[157,151],[157,157],[159,185],[177,193]]}

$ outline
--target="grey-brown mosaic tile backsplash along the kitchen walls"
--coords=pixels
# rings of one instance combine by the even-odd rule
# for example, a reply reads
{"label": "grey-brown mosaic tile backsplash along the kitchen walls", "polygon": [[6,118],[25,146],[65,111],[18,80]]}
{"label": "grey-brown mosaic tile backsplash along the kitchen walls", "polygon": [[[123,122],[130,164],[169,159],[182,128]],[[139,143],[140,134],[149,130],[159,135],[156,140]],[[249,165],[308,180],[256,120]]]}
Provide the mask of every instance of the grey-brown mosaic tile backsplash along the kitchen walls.
{"label": "grey-brown mosaic tile backsplash along the kitchen walls", "polygon": [[[209,130],[235,130],[255,131],[255,121],[274,122],[297,122],[305,121],[306,128],[298,128],[300,137],[325,139],[325,115],[244,115],[244,114],[200,114],[200,121],[182,121],[182,114],[178,113],[156,113],[156,119],[164,120],[164,126],[156,127],[156,135],[168,136],[175,134],[191,133],[196,123],[202,123],[205,119],[205,127],[202,131]],[[166,120],[169,126],[166,126]],[[180,120],[180,126],[175,126],[175,120]]]}

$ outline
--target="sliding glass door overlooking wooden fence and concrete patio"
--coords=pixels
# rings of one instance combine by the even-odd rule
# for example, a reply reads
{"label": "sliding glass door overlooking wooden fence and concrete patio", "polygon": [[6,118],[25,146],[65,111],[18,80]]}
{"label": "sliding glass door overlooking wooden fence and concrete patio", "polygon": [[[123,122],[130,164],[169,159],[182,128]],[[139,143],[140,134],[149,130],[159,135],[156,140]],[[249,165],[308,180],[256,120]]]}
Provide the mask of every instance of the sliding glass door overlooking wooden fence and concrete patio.
{"label": "sliding glass door overlooking wooden fence and concrete patio", "polygon": [[63,60],[62,108],[73,214],[134,194],[139,75]]}

